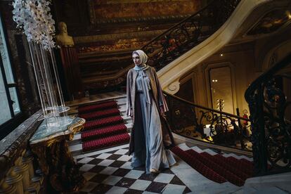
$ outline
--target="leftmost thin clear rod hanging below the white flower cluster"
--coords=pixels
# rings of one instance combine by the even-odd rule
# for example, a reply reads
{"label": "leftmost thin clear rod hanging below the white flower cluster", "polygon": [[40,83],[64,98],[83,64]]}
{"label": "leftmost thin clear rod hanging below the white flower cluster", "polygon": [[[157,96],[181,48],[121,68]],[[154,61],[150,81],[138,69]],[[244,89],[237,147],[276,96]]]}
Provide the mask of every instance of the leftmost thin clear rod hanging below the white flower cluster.
{"label": "leftmost thin clear rod hanging below the white flower cluster", "polygon": [[46,117],[46,105],[45,105],[45,100],[44,100],[44,93],[41,92],[42,89],[41,89],[41,78],[39,75],[39,67],[37,65],[37,58],[36,58],[36,53],[34,52],[34,43],[32,41],[30,41],[28,43],[28,46],[30,48],[30,56],[32,57],[32,65],[33,65],[33,69],[34,69],[34,75],[35,75],[35,78],[37,79],[37,88],[39,90],[39,98],[40,98],[40,101],[41,101],[41,108],[42,108],[42,112],[44,112],[44,117]]}

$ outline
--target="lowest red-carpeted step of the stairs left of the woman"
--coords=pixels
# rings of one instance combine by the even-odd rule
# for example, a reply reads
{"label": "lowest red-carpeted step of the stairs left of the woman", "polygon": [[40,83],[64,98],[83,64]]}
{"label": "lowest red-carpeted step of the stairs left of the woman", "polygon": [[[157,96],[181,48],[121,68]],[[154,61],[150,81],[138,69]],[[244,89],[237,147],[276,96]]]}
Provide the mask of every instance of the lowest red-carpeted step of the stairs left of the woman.
{"label": "lowest red-carpeted step of the stairs left of the woman", "polygon": [[83,152],[91,150],[98,150],[101,148],[108,148],[115,145],[121,145],[129,142],[129,134],[118,134],[115,136],[99,138],[92,141],[86,141],[82,143]]}

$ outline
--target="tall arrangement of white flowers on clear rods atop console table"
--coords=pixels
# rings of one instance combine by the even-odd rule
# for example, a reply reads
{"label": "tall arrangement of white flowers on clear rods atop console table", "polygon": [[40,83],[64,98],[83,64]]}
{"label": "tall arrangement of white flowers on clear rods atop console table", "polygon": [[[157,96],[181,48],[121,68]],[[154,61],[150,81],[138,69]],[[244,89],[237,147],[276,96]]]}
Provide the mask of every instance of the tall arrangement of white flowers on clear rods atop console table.
{"label": "tall arrangement of white flowers on clear rods atop console table", "polygon": [[[67,110],[70,108],[65,107],[56,58],[52,51],[55,47],[52,37],[55,34],[55,22],[50,14],[50,4],[51,1],[46,0],[14,0],[13,20],[23,30],[29,42],[41,108],[44,114],[41,119],[45,119],[43,126],[46,125],[47,130],[54,131],[70,124],[73,118],[67,116]],[[60,115],[60,112],[63,114]]]}

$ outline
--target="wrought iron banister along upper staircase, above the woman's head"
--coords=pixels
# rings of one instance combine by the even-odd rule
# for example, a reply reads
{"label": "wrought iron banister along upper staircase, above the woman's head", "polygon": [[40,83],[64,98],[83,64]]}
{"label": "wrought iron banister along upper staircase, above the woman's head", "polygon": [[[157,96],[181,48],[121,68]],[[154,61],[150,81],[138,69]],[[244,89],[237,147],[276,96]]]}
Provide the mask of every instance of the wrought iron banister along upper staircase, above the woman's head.
{"label": "wrought iron banister along upper staircase, above the woman's head", "polygon": [[214,0],[197,13],[155,37],[141,49],[150,57],[148,65],[162,69],[210,37],[229,18],[240,0]]}

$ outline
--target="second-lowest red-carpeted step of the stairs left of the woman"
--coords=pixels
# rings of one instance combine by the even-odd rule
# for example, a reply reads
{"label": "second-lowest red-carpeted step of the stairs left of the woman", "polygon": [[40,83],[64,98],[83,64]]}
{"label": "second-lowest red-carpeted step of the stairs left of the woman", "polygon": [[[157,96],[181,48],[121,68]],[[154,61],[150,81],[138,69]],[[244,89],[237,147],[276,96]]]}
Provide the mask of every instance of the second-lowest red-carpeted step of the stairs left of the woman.
{"label": "second-lowest red-carpeted step of the stairs left of the woman", "polygon": [[81,138],[82,141],[89,141],[93,138],[102,138],[105,136],[112,136],[114,134],[124,134],[127,132],[127,127],[125,124],[117,124],[110,127],[104,127],[101,129],[93,129],[90,131],[82,132]]}

